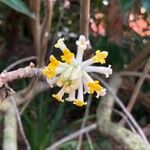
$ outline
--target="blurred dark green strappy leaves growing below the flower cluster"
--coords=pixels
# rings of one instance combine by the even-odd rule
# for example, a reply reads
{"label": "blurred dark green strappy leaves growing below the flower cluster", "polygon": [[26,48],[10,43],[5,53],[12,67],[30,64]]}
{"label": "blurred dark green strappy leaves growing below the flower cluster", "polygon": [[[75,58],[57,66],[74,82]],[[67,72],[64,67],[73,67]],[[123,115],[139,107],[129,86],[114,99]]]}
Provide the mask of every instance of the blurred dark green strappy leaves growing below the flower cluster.
{"label": "blurred dark green strappy leaves growing below the flower cluster", "polygon": [[64,105],[49,110],[49,94],[41,94],[29,105],[23,115],[26,135],[33,150],[44,150],[53,142],[56,132],[61,129]]}

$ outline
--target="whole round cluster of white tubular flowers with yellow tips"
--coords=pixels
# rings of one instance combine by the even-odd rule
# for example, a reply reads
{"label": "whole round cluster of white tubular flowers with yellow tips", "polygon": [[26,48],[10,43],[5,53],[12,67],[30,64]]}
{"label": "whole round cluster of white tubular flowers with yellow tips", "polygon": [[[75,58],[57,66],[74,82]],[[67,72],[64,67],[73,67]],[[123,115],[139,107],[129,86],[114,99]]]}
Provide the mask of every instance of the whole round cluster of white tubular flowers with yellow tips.
{"label": "whole round cluster of white tubular flowers with yellow tips", "polygon": [[52,96],[64,102],[64,95],[66,101],[73,102],[77,106],[84,106],[87,104],[84,101],[85,93],[96,93],[97,98],[106,94],[106,89],[103,88],[99,81],[93,80],[89,72],[97,72],[109,77],[112,74],[111,66],[92,66],[94,63],[105,63],[108,52],[97,50],[95,56],[83,61],[83,53],[87,49],[89,41],[81,35],[76,41],[77,54],[75,55],[66,47],[64,38],[60,38],[55,44],[55,48],[62,51],[62,62],[57,60],[53,55],[50,56],[50,63],[42,71],[46,76],[47,82],[51,87],[56,84],[60,87],[60,91]]}

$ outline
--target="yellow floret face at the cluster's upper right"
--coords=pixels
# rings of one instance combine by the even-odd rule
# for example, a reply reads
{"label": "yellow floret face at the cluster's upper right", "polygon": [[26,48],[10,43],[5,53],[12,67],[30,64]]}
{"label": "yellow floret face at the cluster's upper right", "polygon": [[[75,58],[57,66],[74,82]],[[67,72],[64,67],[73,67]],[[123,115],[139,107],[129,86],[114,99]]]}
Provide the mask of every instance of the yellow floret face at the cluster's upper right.
{"label": "yellow floret face at the cluster's upper right", "polygon": [[100,50],[96,51],[96,55],[93,57],[94,63],[100,62],[101,64],[104,64],[106,61],[106,57],[108,56],[108,52],[103,51],[101,52]]}

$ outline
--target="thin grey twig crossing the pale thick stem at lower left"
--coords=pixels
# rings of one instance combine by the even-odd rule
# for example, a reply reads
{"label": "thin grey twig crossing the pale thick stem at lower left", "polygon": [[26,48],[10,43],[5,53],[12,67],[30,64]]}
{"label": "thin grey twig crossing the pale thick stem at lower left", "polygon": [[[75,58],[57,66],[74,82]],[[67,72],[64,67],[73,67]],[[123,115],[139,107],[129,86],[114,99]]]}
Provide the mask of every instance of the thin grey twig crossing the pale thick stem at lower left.
{"label": "thin grey twig crossing the pale thick stem at lower left", "polygon": [[24,142],[26,143],[27,150],[31,150],[30,144],[29,144],[29,142],[26,138],[26,135],[25,135],[25,132],[24,132],[24,129],[23,129],[23,126],[22,126],[21,118],[20,118],[20,115],[19,115],[19,111],[18,111],[16,102],[15,102],[15,99],[14,99],[13,96],[11,96],[10,99],[11,99],[12,105],[13,105],[15,113],[16,113],[16,118],[17,118],[17,122],[18,122],[18,125],[19,125],[20,133],[23,137]]}

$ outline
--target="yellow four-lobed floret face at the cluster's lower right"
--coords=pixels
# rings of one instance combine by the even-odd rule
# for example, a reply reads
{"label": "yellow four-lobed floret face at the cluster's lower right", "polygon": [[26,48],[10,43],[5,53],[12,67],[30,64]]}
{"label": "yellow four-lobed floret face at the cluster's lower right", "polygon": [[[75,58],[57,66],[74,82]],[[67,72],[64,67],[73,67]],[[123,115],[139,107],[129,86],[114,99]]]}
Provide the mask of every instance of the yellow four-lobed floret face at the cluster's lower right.
{"label": "yellow four-lobed floret face at the cluster's lower right", "polygon": [[97,92],[97,93],[100,93],[102,90],[103,90],[103,87],[99,85],[99,81],[94,81],[94,82],[88,82],[87,83],[87,86],[89,88],[89,93],[94,93]]}

